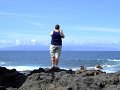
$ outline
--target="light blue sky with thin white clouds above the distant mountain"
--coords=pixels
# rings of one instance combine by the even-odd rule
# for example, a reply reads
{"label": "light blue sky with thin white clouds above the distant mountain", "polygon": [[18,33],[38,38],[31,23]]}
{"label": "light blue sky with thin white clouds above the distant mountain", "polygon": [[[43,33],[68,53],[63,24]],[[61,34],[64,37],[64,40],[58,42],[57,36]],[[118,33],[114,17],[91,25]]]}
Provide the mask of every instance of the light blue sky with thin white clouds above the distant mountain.
{"label": "light blue sky with thin white clouds above the distant mountain", "polygon": [[0,0],[0,48],[49,45],[59,24],[63,45],[120,45],[120,0]]}

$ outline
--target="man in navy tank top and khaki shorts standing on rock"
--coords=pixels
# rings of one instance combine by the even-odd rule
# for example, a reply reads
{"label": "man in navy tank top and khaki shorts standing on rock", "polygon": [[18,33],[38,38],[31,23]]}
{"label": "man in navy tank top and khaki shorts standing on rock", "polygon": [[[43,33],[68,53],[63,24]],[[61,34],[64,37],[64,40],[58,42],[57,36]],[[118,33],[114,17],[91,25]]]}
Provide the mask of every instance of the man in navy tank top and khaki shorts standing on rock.
{"label": "man in navy tank top and khaki shorts standing on rock", "polygon": [[60,30],[60,26],[55,25],[55,29],[50,33],[51,35],[51,45],[50,45],[50,55],[52,59],[52,67],[58,68],[59,57],[62,49],[62,38],[65,38],[64,33]]}

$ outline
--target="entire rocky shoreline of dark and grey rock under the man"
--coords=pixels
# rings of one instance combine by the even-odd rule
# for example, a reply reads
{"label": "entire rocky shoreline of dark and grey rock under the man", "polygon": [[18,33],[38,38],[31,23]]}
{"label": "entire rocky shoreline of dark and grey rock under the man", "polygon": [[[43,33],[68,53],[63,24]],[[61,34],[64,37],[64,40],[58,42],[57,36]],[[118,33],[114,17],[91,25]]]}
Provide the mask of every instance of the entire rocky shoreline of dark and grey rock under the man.
{"label": "entire rocky shoreline of dark and grey rock under the man", "polygon": [[59,68],[19,72],[0,67],[0,90],[120,90],[120,73]]}

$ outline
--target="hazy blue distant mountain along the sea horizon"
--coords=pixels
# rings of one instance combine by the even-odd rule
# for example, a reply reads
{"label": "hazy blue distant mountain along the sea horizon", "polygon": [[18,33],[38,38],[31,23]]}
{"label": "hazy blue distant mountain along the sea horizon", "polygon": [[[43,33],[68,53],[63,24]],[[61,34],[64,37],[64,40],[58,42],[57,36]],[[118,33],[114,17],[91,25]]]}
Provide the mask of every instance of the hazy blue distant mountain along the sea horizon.
{"label": "hazy blue distant mountain along the sea horizon", "polygon": [[[0,48],[4,51],[49,51],[49,46],[43,45],[24,45]],[[96,46],[63,46],[64,51],[120,51],[119,48],[113,47],[96,47]]]}

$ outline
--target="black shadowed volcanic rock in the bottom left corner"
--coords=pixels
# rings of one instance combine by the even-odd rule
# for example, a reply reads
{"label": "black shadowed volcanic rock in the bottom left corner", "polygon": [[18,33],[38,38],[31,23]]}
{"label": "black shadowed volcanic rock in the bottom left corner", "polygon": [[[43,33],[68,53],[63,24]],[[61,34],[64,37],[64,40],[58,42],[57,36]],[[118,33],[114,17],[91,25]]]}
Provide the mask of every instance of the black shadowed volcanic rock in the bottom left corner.
{"label": "black shadowed volcanic rock in the bottom left corner", "polygon": [[25,80],[26,76],[16,71],[16,69],[9,70],[5,67],[0,67],[1,88],[3,87],[19,88],[24,83]]}

